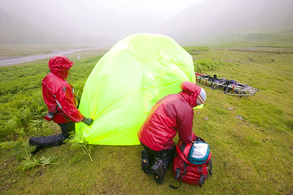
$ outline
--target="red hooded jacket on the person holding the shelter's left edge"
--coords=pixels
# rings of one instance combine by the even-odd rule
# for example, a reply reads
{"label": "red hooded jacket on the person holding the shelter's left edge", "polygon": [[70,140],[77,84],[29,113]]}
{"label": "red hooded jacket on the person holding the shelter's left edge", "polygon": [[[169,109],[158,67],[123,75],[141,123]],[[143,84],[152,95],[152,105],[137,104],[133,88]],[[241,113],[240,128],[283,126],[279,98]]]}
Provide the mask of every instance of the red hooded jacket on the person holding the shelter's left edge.
{"label": "red hooded jacket on the person holding the shelter's left edge", "polygon": [[48,110],[58,111],[53,118],[56,123],[81,122],[84,118],[76,108],[78,103],[74,89],[65,80],[72,64],[65,56],[53,56],[48,64],[51,72],[42,81],[43,98]]}

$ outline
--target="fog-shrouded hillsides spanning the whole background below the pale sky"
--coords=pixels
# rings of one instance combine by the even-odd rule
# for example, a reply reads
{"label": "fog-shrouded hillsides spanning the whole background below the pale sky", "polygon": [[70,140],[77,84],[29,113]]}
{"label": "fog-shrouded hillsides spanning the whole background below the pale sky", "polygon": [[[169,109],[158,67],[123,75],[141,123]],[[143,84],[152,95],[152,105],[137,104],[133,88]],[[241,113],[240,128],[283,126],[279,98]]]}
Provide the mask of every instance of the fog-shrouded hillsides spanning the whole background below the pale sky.
{"label": "fog-shrouded hillsides spanning the whole background below the pale sky", "polygon": [[2,44],[114,44],[136,33],[168,35],[183,46],[293,44],[292,0],[205,0],[169,19],[96,7],[58,15],[19,0],[4,2]]}

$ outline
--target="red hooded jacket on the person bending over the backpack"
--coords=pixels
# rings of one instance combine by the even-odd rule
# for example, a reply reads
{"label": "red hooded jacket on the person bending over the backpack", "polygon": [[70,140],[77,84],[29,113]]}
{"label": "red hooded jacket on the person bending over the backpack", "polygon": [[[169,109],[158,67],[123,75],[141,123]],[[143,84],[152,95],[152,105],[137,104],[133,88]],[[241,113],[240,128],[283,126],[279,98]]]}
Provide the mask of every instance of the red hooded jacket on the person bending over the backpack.
{"label": "red hooded jacket on the person bending over the backpack", "polygon": [[166,95],[156,102],[137,132],[139,141],[152,150],[171,148],[177,132],[183,143],[189,144],[195,139],[193,107],[197,106],[197,96],[202,88],[187,81],[183,81],[180,88],[183,91],[179,94]]}

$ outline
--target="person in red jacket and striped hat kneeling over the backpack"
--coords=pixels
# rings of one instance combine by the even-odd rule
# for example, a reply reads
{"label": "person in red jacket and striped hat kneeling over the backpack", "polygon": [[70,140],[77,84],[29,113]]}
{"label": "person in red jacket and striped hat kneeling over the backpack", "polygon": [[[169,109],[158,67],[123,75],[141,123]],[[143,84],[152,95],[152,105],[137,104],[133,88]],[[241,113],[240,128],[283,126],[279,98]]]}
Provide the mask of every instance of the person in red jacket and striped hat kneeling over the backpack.
{"label": "person in red jacket and striped hat kneeling over the backpack", "polygon": [[[141,152],[142,170],[146,174],[152,173],[154,181],[160,184],[175,153],[173,138],[178,132],[183,143],[195,140],[193,107],[206,100],[205,90],[195,83],[183,81],[180,89],[182,91],[178,94],[166,95],[156,102],[137,132],[144,147]],[[154,159],[155,156],[157,158]]]}

